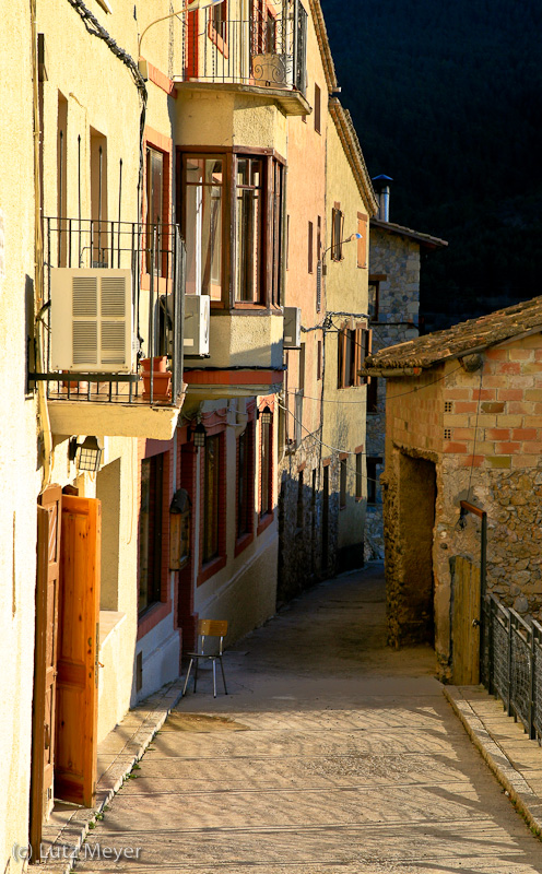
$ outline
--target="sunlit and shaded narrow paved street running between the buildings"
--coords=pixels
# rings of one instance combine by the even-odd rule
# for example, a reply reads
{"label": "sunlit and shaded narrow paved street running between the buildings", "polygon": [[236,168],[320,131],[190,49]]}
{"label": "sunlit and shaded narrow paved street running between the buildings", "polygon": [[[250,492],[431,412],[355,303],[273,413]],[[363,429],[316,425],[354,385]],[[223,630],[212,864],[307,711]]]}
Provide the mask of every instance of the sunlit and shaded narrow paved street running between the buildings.
{"label": "sunlit and shaded narrow paved street running between the buildings", "polygon": [[202,671],[76,871],[542,872],[432,650],[386,647],[384,599],[381,566],[327,581],[227,651],[228,696]]}

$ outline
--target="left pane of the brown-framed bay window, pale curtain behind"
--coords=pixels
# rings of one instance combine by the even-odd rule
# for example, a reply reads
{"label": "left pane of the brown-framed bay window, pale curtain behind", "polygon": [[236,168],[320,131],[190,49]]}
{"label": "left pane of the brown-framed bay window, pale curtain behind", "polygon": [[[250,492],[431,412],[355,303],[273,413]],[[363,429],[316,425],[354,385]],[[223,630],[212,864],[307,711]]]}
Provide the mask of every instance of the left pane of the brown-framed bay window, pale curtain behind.
{"label": "left pane of the brown-framed bay window, pale curtain behind", "polygon": [[222,297],[223,161],[186,162],[187,294]]}

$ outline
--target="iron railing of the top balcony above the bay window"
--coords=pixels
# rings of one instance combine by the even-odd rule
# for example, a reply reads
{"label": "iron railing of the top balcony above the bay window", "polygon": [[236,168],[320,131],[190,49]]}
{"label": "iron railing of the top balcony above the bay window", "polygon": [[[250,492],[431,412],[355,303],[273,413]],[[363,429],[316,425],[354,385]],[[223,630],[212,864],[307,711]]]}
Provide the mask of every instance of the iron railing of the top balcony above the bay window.
{"label": "iron railing of the top balcony above the bay window", "polygon": [[223,4],[190,13],[182,22],[184,81],[241,83],[307,91],[307,13],[283,0],[273,14],[252,4],[243,21],[223,19]]}

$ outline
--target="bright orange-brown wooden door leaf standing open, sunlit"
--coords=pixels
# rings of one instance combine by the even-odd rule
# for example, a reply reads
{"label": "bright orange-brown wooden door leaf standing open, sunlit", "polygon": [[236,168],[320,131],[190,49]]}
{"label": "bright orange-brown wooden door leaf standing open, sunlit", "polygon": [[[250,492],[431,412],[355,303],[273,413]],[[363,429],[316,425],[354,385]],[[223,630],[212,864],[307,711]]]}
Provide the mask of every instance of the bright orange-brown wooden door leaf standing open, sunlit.
{"label": "bright orange-brown wooden door leaf standing open, sunlit", "polygon": [[96,792],[99,541],[99,500],[63,495],[55,787],[86,807]]}

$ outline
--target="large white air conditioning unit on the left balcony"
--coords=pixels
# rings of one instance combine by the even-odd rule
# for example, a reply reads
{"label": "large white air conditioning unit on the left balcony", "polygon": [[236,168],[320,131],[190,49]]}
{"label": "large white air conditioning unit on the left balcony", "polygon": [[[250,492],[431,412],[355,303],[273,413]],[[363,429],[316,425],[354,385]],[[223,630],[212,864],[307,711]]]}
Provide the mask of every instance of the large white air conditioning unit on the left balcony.
{"label": "large white air conditioning unit on the left balcony", "polygon": [[130,270],[50,272],[50,366],[71,373],[134,373]]}

